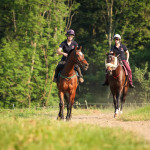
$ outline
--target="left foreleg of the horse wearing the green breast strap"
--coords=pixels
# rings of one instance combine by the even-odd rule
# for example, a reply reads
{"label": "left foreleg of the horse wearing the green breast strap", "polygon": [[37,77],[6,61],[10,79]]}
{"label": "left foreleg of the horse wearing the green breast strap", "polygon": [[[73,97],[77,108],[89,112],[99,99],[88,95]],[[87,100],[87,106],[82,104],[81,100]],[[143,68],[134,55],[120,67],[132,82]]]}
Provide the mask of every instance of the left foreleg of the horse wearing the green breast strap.
{"label": "left foreleg of the horse wearing the green breast strap", "polygon": [[59,98],[60,98],[60,103],[59,103],[59,114],[57,119],[64,119],[64,93],[59,92]]}

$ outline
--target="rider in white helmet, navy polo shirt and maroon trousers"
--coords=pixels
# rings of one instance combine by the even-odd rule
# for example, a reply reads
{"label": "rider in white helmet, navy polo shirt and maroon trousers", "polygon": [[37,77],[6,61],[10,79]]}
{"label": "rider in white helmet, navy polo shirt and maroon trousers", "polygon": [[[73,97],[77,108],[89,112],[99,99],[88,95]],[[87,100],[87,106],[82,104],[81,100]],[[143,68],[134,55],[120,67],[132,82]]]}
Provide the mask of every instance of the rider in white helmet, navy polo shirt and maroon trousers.
{"label": "rider in white helmet, navy polo shirt and maroon trousers", "polygon": [[[119,34],[116,34],[114,36],[115,39],[115,45],[111,48],[110,53],[115,53],[115,54],[120,54],[120,58],[124,64],[124,66],[126,67],[127,71],[128,71],[128,76],[129,76],[129,86],[131,88],[135,88],[135,86],[133,85],[132,82],[132,71],[129,65],[129,51],[127,49],[127,47],[123,44],[121,44],[121,36]],[[125,56],[126,54],[126,56]],[[106,79],[103,85],[108,85],[108,75],[106,74]]]}

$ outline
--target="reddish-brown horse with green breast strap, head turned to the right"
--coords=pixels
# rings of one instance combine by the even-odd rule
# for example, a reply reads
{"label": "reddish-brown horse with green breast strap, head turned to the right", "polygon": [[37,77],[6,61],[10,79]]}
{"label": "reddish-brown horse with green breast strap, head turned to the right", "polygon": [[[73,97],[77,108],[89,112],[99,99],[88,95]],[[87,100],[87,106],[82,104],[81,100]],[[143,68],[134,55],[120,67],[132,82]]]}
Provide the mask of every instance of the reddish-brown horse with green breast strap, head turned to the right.
{"label": "reddish-brown horse with green breast strap, head turned to the right", "polygon": [[72,105],[74,103],[76,89],[77,89],[77,75],[74,70],[75,64],[79,65],[84,70],[88,69],[88,63],[84,58],[84,54],[81,52],[82,47],[78,50],[77,47],[68,54],[67,62],[60,74],[57,87],[59,90],[59,114],[58,119],[64,119],[64,99],[67,102],[67,116],[66,120],[71,119]]}

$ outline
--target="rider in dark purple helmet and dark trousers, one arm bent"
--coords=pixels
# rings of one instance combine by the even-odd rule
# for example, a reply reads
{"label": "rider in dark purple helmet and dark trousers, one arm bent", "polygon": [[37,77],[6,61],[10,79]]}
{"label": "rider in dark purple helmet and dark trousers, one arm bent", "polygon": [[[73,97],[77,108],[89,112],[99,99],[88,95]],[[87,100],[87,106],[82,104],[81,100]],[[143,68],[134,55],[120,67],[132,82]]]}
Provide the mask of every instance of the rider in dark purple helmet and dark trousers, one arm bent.
{"label": "rider in dark purple helmet and dark trousers, one arm bent", "polygon": [[[72,29],[68,30],[66,33],[66,36],[67,36],[67,39],[65,41],[63,41],[60,44],[59,48],[57,49],[57,54],[63,55],[63,57],[55,69],[55,75],[54,75],[53,82],[57,82],[58,73],[60,72],[62,67],[64,67],[66,60],[67,60],[68,53],[75,47],[78,47],[78,43],[73,40],[73,38],[75,36],[74,30],[72,30]],[[75,70],[78,72],[79,82],[83,83],[84,82],[83,75],[81,73],[80,67],[77,64],[75,65]]]}

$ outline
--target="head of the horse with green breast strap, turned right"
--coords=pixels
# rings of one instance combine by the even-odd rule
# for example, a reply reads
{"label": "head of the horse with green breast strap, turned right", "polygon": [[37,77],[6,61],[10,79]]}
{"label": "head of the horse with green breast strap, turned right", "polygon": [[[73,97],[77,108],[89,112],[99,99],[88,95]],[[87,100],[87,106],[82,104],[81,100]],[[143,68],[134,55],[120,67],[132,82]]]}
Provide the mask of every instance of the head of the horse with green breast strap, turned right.
{"label": "head of the horse with green breast strap, turned right", "polygon": [[74,61],[76,64],[78,64],[83,70],[87,70],[89,67],[89,64],[84,58],[84,54],[81,52],[82,46],[80,46],[79,49],[75,47],[75,53],[74,53]]}

